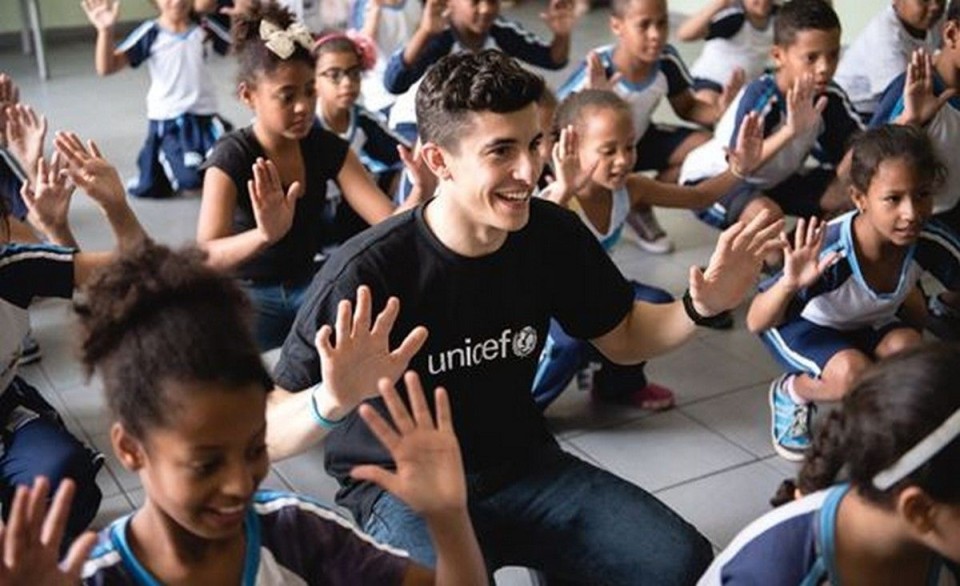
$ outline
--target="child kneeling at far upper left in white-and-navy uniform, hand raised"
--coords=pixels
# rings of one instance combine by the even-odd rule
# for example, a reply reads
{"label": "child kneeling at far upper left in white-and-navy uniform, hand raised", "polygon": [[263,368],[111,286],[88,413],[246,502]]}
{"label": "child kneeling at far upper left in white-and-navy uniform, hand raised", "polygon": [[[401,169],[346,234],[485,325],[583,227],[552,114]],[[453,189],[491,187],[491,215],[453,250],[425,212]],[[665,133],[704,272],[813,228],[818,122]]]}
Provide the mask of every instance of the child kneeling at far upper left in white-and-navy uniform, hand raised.
{"label": "child kneeling at far upper left in white-and-navy uniform, hand raised", "polygon": [[200,189],[200,165],[216,140],[229,129],[217,115],[213,78],[207,70],[208,40],[225,54],[229,39],[213,38],[219,28],[195,19],[193,0],[161,0],[160,15],[141,24],[114,46],[119,0],[83,0],[87,19],[97,29],[99,75],[147,64],[147,139],[137,156],[138,176],[130,195],[162,198]]}

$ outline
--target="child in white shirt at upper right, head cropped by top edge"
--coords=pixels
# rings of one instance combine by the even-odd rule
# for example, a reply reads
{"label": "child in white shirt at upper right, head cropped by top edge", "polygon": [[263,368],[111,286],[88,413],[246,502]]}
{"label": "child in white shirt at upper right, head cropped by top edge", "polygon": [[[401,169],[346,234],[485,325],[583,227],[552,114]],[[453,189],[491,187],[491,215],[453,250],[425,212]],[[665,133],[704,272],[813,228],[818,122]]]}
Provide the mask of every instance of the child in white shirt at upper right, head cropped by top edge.
{"label": "child in white shirt at upper right, head cropped by top edge", "polygon": [[745,81],[759,77],[773,46],[774,0],[712,0],[677,27],[677,39],[704,39],[690,67],[697,97],[716,102],[737,70]]}

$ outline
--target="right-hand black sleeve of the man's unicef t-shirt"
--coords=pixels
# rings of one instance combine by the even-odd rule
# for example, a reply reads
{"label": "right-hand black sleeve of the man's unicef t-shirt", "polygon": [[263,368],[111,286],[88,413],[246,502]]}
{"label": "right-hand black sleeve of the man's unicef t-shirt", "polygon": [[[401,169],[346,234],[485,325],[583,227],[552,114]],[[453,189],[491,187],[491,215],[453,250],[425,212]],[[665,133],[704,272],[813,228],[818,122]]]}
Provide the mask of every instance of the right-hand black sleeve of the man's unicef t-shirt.
{"label": "right-hand black sleeve of the man's unicef t-shirt", "polygon": [[552,315],[564,331],[575,338],[590,339],[613,330],[633,307],[633,287],[590,233],[583,221],[569,210],[547,204],[545,211],[556,218],[543,222],[550,257],[557,275]]}

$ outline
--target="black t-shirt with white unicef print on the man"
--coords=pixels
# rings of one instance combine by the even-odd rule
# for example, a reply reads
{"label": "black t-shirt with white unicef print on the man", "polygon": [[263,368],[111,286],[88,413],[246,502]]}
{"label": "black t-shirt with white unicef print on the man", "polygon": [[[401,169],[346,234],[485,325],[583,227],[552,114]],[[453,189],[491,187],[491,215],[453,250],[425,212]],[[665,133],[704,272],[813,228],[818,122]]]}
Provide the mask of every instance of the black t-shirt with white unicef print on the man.
{"label": "black t-shirt with white unicef print on the man", "polygon": [[[429,205],[429,204],[427,204]],[[314,278],[275,371],[277,384],[306,389],[320,380],[314,337],[336,320],[337,303],[370,286],[374,311],[400,299],[391,347],[417,325],[429,330],[410,368],[428,393],[450,394],[468,472],[523,462],[554,440],[531,387],[550,318],[577,338],[611,331],[633,304],[633,288],[572,212],[533,199],[530,220],[496,252],[460,256],[433,235],[424,206],[395,216],[341,246]],[[386,413],[378,398],[371,404]],[[379,489],[357,485],[350,468],[391,465],[356,411],[326,440],[338,502],[364,515]]]}

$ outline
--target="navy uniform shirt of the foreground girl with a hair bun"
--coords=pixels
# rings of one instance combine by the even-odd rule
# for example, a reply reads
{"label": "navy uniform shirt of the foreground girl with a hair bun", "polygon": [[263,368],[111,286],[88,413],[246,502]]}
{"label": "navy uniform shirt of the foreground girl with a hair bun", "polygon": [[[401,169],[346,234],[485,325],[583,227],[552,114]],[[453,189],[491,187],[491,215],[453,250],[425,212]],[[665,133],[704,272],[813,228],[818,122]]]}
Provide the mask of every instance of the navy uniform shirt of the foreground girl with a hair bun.
{"label": "navy uniform shirt of the foreground girl with a hair bun", "polygon": [[[84,584],[159,586],[131,547],[135,514],[100,532],[83,566]],[[404,552],[378,544],[335,511],[294,494],[256,493],[243,531],[243,586],[401,584],[410,563]]]}

